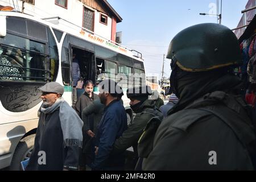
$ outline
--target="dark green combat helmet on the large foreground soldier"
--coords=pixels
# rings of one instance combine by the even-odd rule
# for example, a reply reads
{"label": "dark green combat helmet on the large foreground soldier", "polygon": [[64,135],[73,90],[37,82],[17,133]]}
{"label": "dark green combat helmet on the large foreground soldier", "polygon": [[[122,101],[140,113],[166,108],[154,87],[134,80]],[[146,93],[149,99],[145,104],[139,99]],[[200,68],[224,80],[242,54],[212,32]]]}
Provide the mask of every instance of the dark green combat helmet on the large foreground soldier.
{"label": "dark green combat helmet on the large foreground soldier", "polygon": [[242,60],[236,35],[217,23],[197,24],[179,32],[170,43],[167,58],[172,59],[171,67],[177,65],[187,72],[209,71]]}

